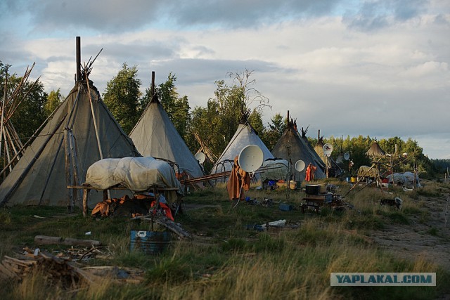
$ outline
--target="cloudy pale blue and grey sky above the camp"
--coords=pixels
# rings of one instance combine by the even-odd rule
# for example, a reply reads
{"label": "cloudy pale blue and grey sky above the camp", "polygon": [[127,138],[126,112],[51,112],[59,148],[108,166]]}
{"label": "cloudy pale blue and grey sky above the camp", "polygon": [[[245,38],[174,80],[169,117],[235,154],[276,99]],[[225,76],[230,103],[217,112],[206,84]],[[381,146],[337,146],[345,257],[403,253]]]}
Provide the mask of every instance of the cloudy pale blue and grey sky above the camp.
{"label": "cloudy pale blue and grey sky above the camp", "polygon": [[[2,0],[0,60],[22,75],[36,63],[47,92],[75,84],[75,41],[103,93],[122,65],[172,72],[191,108],[214,81],[251,71],[276,113],[307,136],[398,136],[432,159],[450,159],[448,0]],[[390,152],[390,150],[387,150]]]}

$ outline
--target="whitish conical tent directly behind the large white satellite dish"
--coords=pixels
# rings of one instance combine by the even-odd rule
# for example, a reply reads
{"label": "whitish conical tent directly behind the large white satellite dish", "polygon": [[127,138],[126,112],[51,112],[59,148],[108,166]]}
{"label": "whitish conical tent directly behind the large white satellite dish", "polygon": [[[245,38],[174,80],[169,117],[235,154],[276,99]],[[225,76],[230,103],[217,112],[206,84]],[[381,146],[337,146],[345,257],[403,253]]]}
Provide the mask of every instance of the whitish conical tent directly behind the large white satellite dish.
{"label": "whitish conical tent directly behind the large white satellite dish", "polygon": [[264,161],[269,158],[274,158],[274,155],[272,155],[266,145],[261,141],[255,129],[252,129],[252,126],[248,122],[245,122],[245,124],[239,124],[233,138],[231,138],[231,141],[226,145],[219,159],[217,159],[216,164],[212,167],[211,174],[231,171],[234,158],[248,145],[257,145],[261,148]]}

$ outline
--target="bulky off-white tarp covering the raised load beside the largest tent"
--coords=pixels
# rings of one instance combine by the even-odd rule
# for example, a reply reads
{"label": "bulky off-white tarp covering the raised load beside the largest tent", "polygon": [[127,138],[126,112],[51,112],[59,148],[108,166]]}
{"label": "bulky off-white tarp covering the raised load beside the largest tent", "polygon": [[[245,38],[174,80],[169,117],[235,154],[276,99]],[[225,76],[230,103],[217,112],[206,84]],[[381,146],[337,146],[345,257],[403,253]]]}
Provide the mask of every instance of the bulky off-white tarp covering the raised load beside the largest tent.
{"label": "bulky off-white tarp covering the raised load beside the largest tent", "polygon": [[121,184],[129,190],[148,190],[151,186],[179,188],[174,169],[167,162],[153,157],[124,157],[121,159],[101,159],[89,167],[86,183],[105,190]]}

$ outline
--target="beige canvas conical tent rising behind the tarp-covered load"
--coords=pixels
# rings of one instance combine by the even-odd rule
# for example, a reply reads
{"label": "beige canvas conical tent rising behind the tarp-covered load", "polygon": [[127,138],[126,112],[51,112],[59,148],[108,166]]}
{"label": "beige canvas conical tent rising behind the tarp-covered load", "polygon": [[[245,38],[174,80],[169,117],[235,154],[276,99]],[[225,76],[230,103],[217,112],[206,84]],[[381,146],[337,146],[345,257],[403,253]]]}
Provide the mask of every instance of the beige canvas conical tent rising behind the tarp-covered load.
{"label": "beige canvas conical tent rising behind the tarp-covered load", "polygon": [[129,136],[141,155],[174,162],[179,168],[175,171],[179,174],[185,172],[193,178],[203,176],[198,160],[176,131],[156,96],[150,100]]}

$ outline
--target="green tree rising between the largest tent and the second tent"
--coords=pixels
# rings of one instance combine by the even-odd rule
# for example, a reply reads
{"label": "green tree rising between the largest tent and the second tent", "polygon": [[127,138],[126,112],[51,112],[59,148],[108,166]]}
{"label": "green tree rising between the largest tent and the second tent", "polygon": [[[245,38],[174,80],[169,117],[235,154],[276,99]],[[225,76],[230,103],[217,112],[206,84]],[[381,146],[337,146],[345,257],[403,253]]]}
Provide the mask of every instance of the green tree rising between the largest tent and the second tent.
{"label": "green tree rising between the largest tent and the second tent", "polygon": [[141,117],[139,99],[141,79],[137,78],[137,66],[122,65],[117,75],[106,84],[103,101],[113,113],[125,133],[129,133]]}

